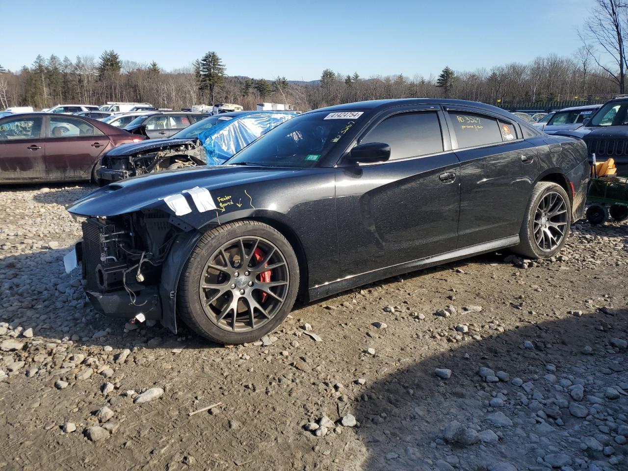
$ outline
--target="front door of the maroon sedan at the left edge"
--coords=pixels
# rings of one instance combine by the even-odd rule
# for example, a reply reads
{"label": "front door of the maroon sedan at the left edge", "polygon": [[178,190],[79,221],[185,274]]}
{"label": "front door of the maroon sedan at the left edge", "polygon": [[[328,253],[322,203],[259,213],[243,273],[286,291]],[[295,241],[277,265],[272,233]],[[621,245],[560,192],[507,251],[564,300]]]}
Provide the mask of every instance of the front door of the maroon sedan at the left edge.
{"label": "front door of the maroon sedan at the left edge", "polygon": [[0,122],[0,181],[45,178],[43,117],[7,117]]}

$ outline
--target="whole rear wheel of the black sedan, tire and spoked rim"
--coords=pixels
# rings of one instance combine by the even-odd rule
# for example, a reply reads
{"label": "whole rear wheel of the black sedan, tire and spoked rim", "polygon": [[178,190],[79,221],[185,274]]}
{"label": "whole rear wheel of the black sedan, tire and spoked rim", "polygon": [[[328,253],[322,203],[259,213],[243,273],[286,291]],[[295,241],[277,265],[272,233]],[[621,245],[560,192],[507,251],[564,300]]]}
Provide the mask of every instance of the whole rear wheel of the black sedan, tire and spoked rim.
{"label": "whole rear wheel of the black sedan, tire and spoked rim", "polygon": [[565,245],[570,227],[571,202],[563,187],[552,181],[539,181],[526,207],[519,245],[512,251],[531,259],[553,257]]}

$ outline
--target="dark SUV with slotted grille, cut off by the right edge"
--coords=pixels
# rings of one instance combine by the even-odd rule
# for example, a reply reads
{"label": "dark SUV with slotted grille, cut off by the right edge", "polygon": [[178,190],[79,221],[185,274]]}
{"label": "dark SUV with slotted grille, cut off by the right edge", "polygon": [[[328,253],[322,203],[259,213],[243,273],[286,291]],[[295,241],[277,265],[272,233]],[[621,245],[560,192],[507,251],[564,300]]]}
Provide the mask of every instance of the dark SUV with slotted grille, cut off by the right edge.
{"label": "dark SUV with slotted grille, cut off by the right edge", "polygon": [[556,131],[555,135],[583,139],[589,158],[615,160],[618,175],[628,176],[628,95],[607,101],[575,131]]}

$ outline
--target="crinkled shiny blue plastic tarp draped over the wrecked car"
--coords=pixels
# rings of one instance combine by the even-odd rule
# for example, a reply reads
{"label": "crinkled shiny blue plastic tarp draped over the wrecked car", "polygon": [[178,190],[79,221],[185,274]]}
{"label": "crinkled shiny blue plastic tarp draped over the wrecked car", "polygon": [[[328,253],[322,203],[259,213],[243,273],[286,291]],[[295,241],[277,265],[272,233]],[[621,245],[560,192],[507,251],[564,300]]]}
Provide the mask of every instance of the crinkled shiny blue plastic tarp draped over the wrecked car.
{"label": "crinkled shiny blue plastic tarp draped over the wrecked car", "polygon": [[220,165],[262,134],[295,116],[298,114],[288,111],[251,111],[231,119],[224,116],[224,122],[219,121],[198,134],[207,154],[207,165]]}

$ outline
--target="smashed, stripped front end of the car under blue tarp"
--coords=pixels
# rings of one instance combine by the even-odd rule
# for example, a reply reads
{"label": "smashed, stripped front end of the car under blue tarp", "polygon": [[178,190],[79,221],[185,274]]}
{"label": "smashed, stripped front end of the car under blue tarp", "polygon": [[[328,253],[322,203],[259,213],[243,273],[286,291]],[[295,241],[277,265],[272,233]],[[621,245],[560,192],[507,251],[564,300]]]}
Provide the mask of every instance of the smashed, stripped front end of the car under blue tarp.
{"label": "smashed, stripped front end of the car under blue tarp", "polygon": [[182,143],[146,144],[133,153],[112,149],[100,161],[97,176],[101,185],[162,170],[206,165],[205,149],[197,139]]}

